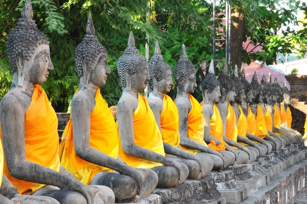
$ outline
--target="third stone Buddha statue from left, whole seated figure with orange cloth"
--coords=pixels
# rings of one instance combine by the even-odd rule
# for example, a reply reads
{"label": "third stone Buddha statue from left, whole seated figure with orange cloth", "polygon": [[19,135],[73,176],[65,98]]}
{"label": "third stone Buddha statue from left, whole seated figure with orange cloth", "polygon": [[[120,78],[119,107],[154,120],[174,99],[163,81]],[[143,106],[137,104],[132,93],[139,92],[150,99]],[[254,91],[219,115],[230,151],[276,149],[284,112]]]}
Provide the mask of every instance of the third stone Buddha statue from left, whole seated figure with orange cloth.
{"label": "third stone Buddha statue from left, whole seated figure with orange cloth", "polygon": [[132,32],[128,47],[118,59],[117,71],[123,90],[117,105],[119,157],[129,166],[155,171],[158,174],[158,188],[181,185],[189,169],[182,162],[165,157],[155,115],[145,97],[139,93],[146,88],[149,72],[146,58],[135,47]]}

